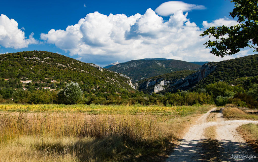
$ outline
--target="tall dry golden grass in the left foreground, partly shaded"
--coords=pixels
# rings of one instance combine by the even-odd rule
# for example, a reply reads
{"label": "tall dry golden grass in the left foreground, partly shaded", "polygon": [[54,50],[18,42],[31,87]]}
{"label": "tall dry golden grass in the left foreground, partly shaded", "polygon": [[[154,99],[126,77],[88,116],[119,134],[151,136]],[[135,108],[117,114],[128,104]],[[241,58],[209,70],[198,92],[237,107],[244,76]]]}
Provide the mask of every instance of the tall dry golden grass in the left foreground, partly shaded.
{"label": "tall dry golden grass in the left foreground, partly shaded", "polygon": [[9,113],[0,121],[0,161],[120,161],[175,137],[164,118],[150,115]]}

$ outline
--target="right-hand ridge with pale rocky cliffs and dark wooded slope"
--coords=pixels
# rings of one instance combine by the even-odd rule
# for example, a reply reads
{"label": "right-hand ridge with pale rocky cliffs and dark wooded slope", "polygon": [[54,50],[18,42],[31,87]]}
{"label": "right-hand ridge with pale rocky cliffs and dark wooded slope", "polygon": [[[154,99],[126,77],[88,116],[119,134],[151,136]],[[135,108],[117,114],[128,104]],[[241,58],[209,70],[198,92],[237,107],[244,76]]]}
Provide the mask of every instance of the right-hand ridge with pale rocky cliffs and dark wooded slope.
{"label": "right-hand ridge with pale rocky cliffs and dark wooded slope", "polygon": [[250,82],[258,83],[258,54],[220,62],[209,62],[195,73],[184,70],[147,78],[137,82],[136,87],[145,93],[165,94],[177,90],[197,90],[210,83],[220,81],[230,85],[241,85],[246,89],[249,88]]}

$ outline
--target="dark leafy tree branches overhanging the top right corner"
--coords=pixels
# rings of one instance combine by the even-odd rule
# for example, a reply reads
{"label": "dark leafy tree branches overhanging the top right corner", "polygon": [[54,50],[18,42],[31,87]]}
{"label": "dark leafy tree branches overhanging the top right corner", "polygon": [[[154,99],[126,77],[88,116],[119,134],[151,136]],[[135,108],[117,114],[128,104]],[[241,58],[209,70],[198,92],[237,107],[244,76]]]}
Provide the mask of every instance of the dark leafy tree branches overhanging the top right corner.
{"label": "dark leafy tree branches overhanging the top right corner", "polygon": [[240,48],[251,47],[258,52],[258,1],[257,0],[232,0],[235,8],[229,15],[238,18],[238,24],[230,27],[209,27],[200,36],[208,35],[216,38],[207,41],[206,48],[212,47],[211,53],[216,56],[236,54]]}

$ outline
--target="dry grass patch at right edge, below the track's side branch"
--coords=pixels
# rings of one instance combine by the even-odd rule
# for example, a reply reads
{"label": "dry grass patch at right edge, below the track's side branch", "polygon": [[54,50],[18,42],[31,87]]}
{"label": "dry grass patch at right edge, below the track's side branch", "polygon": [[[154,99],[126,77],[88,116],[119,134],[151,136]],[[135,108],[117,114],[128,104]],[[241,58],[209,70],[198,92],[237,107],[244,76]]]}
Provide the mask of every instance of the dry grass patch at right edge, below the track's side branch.
{"label": "dry grass patch at right edge, below the track's side branch", "polygon": [[248,142],[258,152],[258,125],[245,124],[237,128],[244,140]]}

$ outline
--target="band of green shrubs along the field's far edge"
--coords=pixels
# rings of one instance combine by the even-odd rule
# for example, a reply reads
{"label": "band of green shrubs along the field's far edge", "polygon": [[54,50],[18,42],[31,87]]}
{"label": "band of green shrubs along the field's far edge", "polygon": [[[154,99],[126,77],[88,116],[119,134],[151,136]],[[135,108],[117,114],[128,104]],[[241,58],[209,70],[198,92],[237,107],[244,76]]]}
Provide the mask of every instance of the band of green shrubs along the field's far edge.
{"label": "band of green shrubs along the field's far edge", "polygon": [[[47,103],[65,103],[68,102],[63,91],[49,91],[49,90],[16,90],[14,91],[13,101],[2,100],[2,103],[33,103],[33,104],[47,104]],[[140,92],[131,93],[122,91],[122,93],[83,93],[83,98],[74,103],[82,104],[142,104],[142,105],[165,105],[165,106],[182,106],[194,104],[212,104],[213,98],[207,93],[197,92],[178,92],[167,93],[160,95],[153,93],[152,95],[143,94]],[[0,100],[1,101],[1,100]]]}

